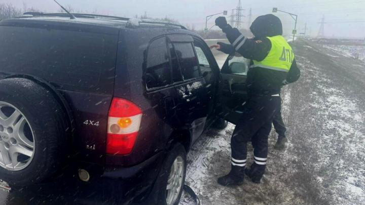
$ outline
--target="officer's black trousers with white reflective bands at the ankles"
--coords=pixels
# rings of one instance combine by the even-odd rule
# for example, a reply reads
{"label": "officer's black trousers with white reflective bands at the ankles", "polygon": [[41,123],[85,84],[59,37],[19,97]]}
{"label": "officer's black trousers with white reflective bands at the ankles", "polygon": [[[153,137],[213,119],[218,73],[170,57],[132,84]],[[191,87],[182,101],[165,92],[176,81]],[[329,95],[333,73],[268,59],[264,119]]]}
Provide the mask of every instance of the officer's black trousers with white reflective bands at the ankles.
{"label": "officer's black trousers with white reflective bands at the ankles", "polygon": [[232,165],[244,167],[247,157],[247,142],[254,143],[254,164],[257,175],[265,172],[268,154],[268,136],[274,115],[281,106],[280,97],[251,97],[243,105],[243,114],[231,138]]}

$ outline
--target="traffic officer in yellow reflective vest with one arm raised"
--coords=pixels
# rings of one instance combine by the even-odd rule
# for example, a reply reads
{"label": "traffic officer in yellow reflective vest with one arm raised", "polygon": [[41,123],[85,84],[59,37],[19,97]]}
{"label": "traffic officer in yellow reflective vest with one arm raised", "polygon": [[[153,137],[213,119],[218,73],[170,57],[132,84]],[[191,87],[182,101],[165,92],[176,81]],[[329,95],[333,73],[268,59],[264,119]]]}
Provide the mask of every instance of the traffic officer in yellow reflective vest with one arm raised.
{"label": "traffic officer in yellow reflective vest with one arm raised", "polygon": [[[218,42],[213,47],[225,53],[238,52],[251,59],[246,79],[248,100],[231,138],[231,171],[218,178],[218,183],[240,185],[244,173],[252,182],[260,183],[266,168],[271,124],[281,106],[280,89],[288,71],[299,69],[293,50],[282,36],[281,21],[276,16],[268,14],[255,19],[250,27],[255,36],[252,39],[227,24],[225,17],[218,17],[215,24],[226,33],[231,45]],[[250,169],[245,169],[246,145],[250,140],[254,144],[254,162]]]}

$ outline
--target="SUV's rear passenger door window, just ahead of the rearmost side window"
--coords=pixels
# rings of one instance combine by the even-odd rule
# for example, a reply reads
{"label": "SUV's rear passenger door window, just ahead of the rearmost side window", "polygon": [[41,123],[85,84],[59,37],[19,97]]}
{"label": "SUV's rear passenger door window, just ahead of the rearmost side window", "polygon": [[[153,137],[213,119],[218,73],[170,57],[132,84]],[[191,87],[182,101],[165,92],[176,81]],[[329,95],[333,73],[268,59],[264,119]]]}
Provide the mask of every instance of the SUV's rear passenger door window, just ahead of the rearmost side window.
{"label": "SUV's rear passenger door window, just ahead of the rearmost side window", "polygon": [[199,77],[199,64],[193,45],[191,43],[174,43],[174,48],[184,80]]}

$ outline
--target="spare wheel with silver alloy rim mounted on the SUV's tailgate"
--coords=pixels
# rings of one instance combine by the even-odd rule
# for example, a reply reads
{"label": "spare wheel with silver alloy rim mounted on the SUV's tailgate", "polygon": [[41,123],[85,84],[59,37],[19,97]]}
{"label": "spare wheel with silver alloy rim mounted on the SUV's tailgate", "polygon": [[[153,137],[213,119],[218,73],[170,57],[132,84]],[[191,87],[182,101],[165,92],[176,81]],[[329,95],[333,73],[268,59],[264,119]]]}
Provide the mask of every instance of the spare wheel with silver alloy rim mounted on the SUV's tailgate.
{"label": "spare wheel with silver alloy rim mounted on the SUV's tailgate", "polygon": [[22,187],[52,176],[67,153],[66,119],[49,90],[24,78],[0,80],[0,178]]}

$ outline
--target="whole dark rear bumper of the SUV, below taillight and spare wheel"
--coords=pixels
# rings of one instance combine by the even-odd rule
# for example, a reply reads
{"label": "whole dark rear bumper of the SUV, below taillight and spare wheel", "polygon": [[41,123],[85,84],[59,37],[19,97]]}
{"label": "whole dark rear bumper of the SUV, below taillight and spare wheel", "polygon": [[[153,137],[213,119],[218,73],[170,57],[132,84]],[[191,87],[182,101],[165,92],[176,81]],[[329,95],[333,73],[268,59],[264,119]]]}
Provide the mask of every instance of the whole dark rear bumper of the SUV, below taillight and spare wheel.
{"label": "whole dark rear bumper of the SUV, below taillight and spare wheel", "polygon": [[[67,171],[56,179],[12,191],[10,198],[21,197],[22,201],[31,199],[34,202],[45,201],[53,204],[55,200],[60,204],[146,204],[146,201],[148,204],[154,204],[155,194],[150,193],[163,159],[163,152],[159,152],[139,165],[129,168],[78,163],[67,168]],[[88,182],[79,179],[79,169],[89,172]]]}

